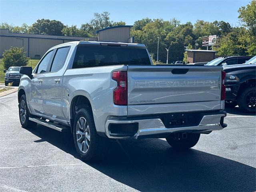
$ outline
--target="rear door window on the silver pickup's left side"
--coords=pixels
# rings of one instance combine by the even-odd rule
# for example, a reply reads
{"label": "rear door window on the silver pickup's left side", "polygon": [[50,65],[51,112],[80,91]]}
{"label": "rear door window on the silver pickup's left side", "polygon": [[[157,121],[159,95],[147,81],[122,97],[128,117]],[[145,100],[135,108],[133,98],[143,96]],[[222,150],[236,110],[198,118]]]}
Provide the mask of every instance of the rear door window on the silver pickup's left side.
{"label": "rear door window on the silver pickup's left side", "polygon": [[69,48],[70,47],[63,47],[63,48],[58,48],[56,50],[50,72],[56,72],[64,66]]}

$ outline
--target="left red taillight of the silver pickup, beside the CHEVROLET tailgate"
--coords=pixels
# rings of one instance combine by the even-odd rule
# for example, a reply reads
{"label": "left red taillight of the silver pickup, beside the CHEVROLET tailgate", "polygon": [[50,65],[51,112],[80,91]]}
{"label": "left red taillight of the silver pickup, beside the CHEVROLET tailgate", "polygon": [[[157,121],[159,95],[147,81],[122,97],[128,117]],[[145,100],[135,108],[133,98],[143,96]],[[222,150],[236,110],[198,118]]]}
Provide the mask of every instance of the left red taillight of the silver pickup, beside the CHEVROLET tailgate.
{"label": "left red taillight of the silver pickup, beside the CHEVROLET tailgate", "polygon": [[117,88],[113,93],[114,104],[127,105],[127,72],[115,71],[112,73],[112,79],[117,82]]}

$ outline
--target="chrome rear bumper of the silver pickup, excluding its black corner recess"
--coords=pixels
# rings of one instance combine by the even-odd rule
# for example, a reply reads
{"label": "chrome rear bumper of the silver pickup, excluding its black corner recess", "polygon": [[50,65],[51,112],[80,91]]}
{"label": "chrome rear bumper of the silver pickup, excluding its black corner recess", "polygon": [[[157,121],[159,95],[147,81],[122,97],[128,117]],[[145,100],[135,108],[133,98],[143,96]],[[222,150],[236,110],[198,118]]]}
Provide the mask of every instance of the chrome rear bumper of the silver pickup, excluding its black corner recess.
{"label": "chrome rear bumper of the silver pickup, excluding its black corner recess", "polygon": [[[108,138],[139,138],[140,136],[152,136],[156,134],[169,134],[174,132],[209,132],[213,130],[221,130],[226,127],[221,118],[226,116],[226,112],[222,114],[204,115],[198,126],[186,126],[177,128],[166,128],[160,118],[142,119],[142,120],[107,120],[106,135]],[[138,131],[134,136],[111,136],[109,131],[110,124],[132,124],[138,123]]]}

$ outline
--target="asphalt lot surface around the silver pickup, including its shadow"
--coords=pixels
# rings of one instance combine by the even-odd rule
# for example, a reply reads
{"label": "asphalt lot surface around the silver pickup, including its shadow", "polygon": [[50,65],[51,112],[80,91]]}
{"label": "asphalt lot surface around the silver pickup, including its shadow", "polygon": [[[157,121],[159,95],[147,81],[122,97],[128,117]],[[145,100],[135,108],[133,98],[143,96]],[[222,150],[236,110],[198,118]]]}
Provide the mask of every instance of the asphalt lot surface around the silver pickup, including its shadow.
{"label": "asphalt lot surface around the silver pickup, including its shadow", "polygon": [[0,98],[0,191],[255,191],[256,116],[227,110],[228,127],[187,151],[164,139],[110,142],[101,162],[78,159],[70,133],[26,130],[17,92]]}

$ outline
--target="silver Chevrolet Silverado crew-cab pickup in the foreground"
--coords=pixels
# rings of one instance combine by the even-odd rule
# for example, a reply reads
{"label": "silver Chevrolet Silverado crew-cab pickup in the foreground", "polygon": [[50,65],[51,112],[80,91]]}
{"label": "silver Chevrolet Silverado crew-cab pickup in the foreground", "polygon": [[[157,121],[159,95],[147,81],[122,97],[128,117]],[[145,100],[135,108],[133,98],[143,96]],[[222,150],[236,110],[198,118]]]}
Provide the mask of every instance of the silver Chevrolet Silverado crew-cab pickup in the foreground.
{"label": "silver Chevrolet Silverado crew-cab pickup in the foreground", "polygon": [[21,67],[20,123],[71,130],[84,160],[100,158],[105,138],[166,138],[191,148],[200,134],[227,126],[222,69],[155,66],[143,44],[60,44],[33,71]]}

